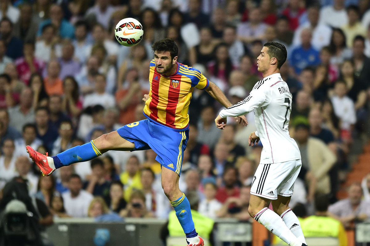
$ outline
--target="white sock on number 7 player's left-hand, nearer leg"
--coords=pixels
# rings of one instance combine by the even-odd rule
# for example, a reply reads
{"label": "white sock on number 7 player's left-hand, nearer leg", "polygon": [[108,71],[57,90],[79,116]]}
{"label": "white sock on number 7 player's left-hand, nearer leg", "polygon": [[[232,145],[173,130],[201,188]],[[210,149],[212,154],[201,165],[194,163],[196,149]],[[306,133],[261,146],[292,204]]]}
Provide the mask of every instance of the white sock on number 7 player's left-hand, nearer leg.
{"label": "white sock on number 7 player's left-hand, nearer leg", "polygon": [[286,227],[282,218],[274,211],[263,208],[253,218],[289,246],[302,246],[302,242]]}

